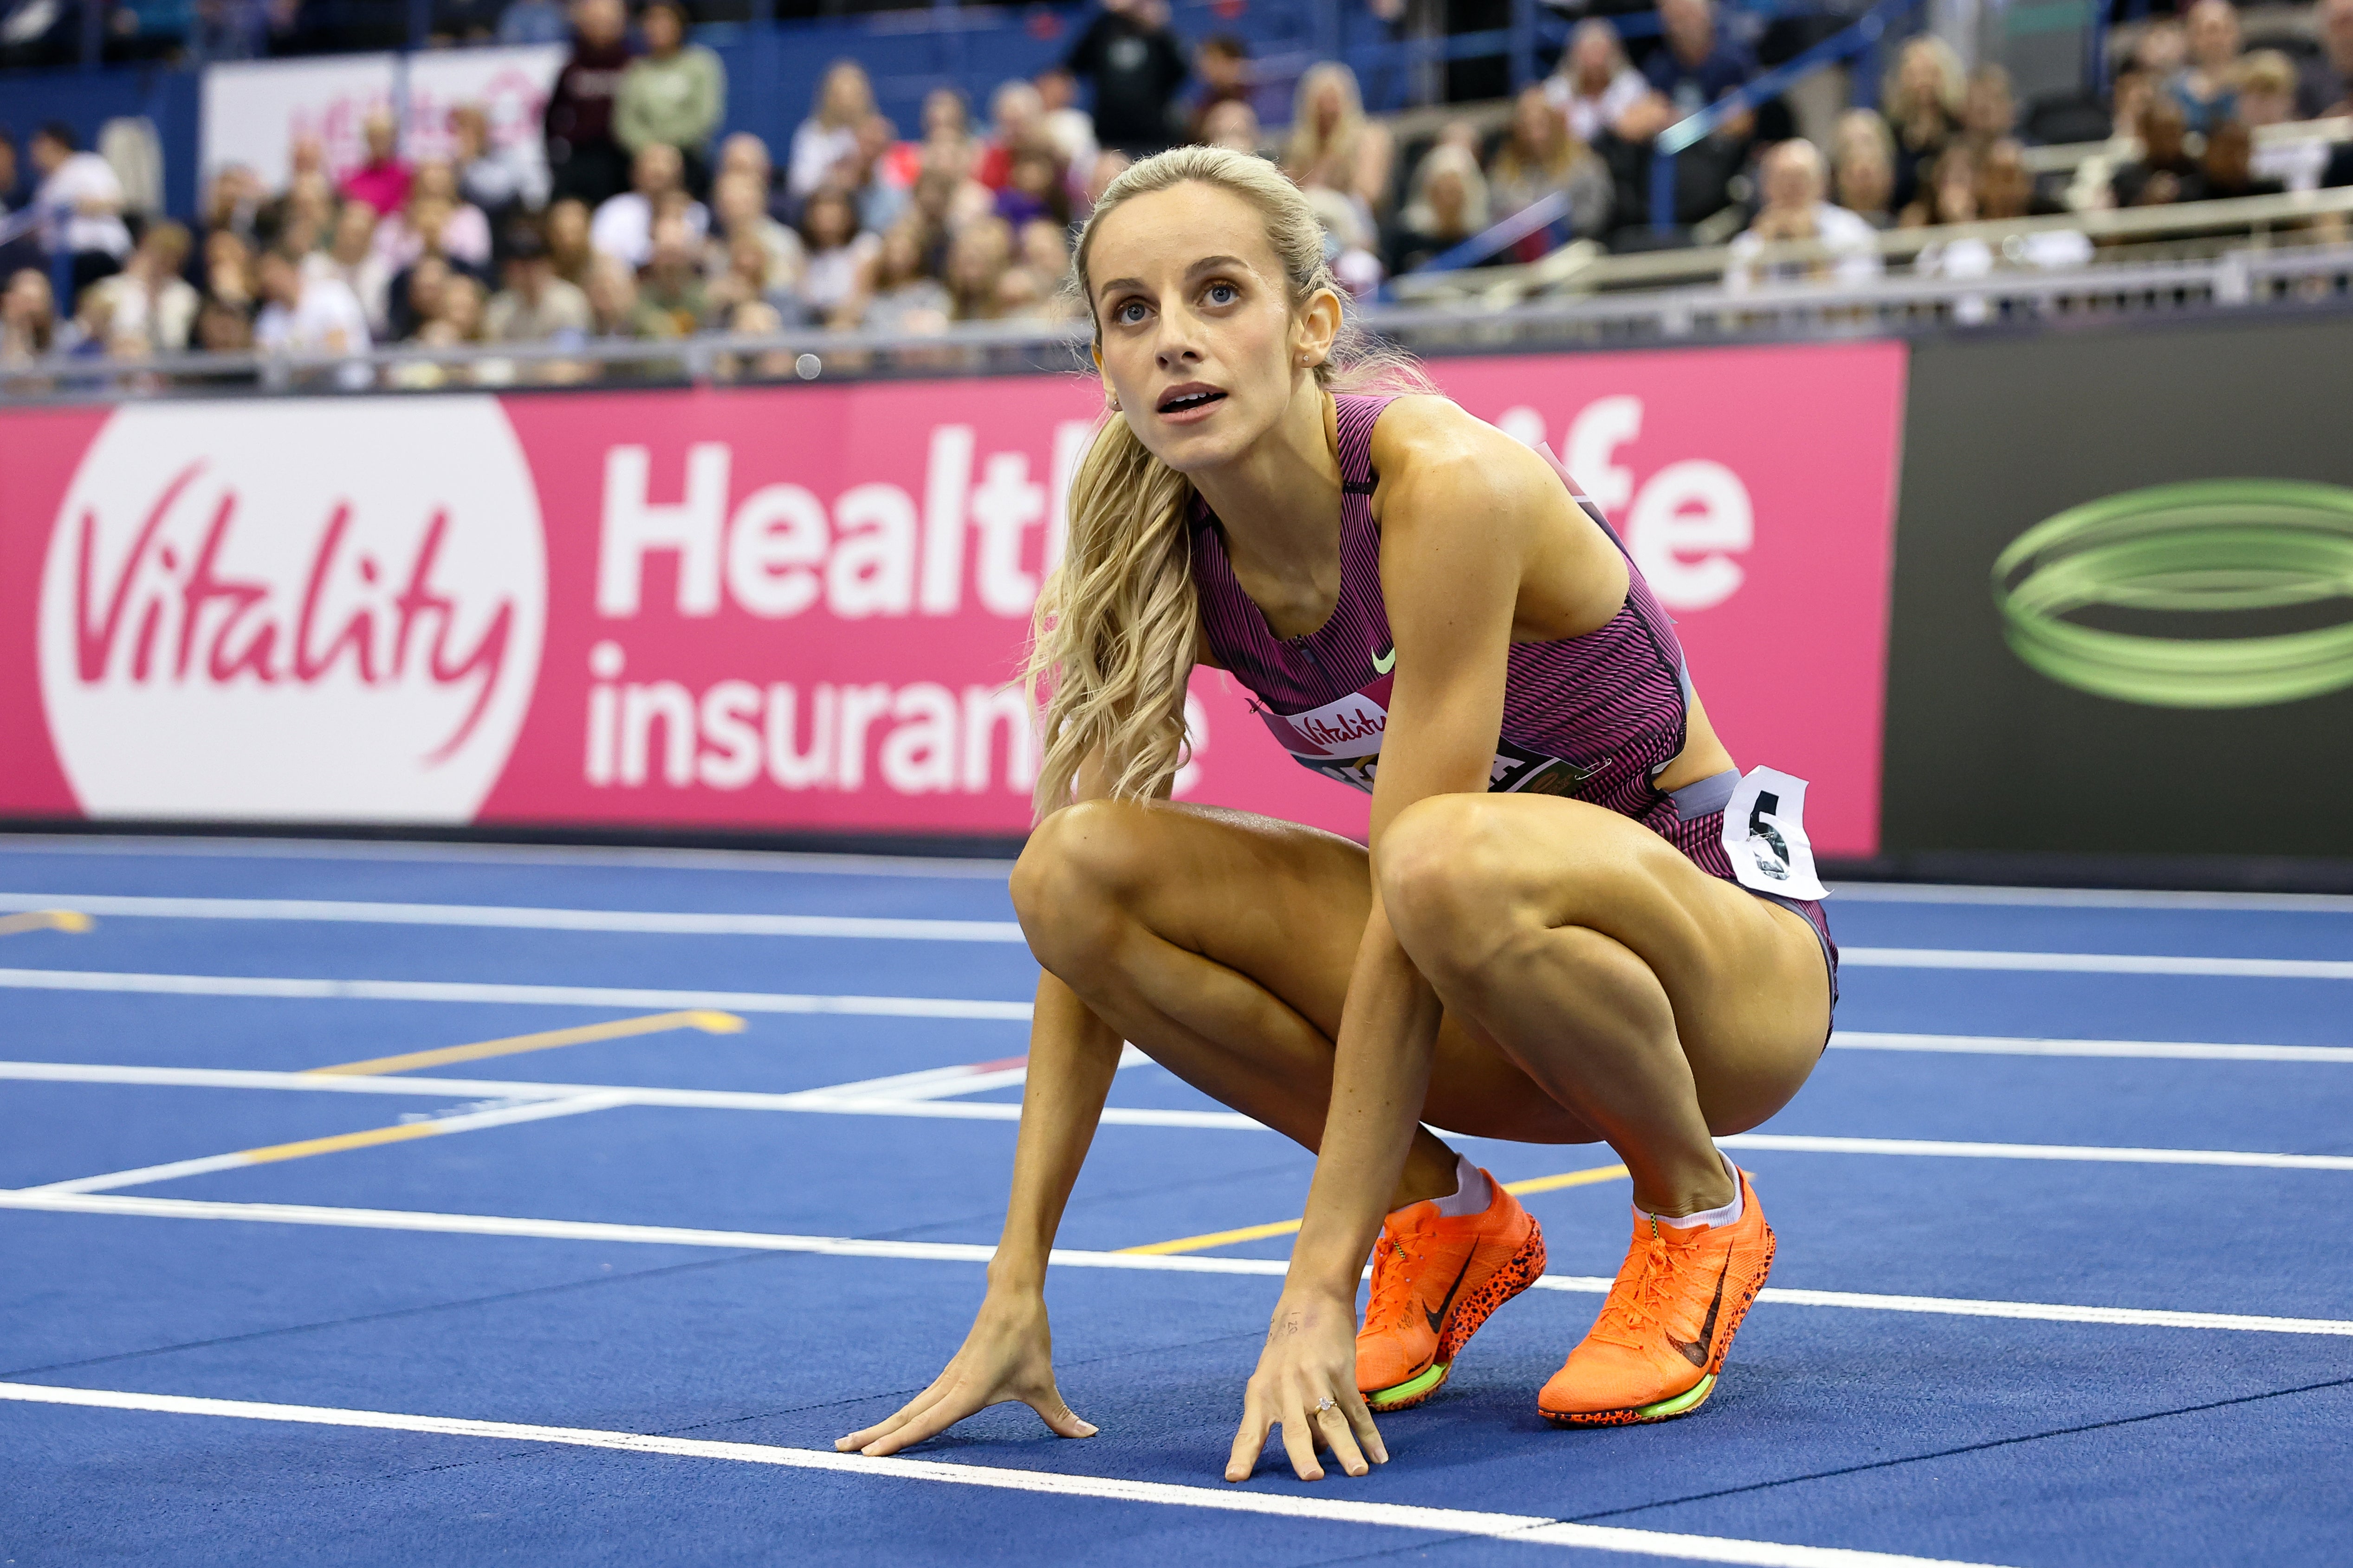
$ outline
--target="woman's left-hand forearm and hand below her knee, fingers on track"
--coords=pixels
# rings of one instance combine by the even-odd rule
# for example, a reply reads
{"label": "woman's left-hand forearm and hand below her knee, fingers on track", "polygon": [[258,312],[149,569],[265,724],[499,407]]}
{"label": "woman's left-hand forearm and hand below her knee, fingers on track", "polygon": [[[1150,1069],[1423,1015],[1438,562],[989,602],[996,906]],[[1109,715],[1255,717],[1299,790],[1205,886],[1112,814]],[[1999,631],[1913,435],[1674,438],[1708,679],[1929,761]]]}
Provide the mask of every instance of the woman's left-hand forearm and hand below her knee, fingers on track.
{"label": "woman's left-hand forearm and hand below her knee, fingers on track", "polygon": [[[1078,771],[1078,799],[1101,799],[1111,788],[1096,757]],[[889,1420],[835,1439],[835,1448],[871,1455],[946,1432],[993,1403],[1019,1399],[1059,1436],[1094,1436],[1054,1387],[1054,1333],[1045,1314],[1045,1262],[1054,1251],[1061,1211],[1078,1168],[1087,1161],[1104,1117],[1111,1079],[1120,1070],[1120,1032],[1106,1025],[1068,985],[1038,973],[1031,1013],[1028,1077],[1021,1081],[1021,1133],[1014,1143],[1014,1185],[1005,1232],[988,1260],[988,1293],[972,1333],[932,1385]]]}

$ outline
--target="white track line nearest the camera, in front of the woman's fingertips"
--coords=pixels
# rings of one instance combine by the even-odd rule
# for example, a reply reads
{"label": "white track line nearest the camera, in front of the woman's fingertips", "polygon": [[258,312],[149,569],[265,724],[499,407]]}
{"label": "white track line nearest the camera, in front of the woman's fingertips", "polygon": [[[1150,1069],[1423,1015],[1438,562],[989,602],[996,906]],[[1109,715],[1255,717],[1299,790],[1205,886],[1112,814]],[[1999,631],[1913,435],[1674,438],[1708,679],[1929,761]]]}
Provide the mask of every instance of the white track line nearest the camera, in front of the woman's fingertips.
{"label": "white track line nearest the camera, in front of the woman's fingertips", "polygon": [[786,1469],[824,1469],[847,1476],[889,1481],[934,1481],[948,1486],[986,1486],[1009,1493],[1045,1493],[1054,1497],[1101,1497],[1111,1502],[1151,1502],[1160,1507],[1214,1509],[1221,1514],[1264,1514],[1273,1519],[1313,1519],[1322,1523],[1391,1526],[1398,1530],[1435,1530],[1473,1535],[1529,1547],[1569,1547],[1586,1552],[1621,1552],[1671,1556],[1692,1563],[1753,1563],[1758,1568],[1984,1568],[1948,1559],[1897,1556],[1887,1552],[1849,1552],[1842,1547],[1788,1547],[1765,1540],[1729,1540],[1722,1535],[1680,1535],[1668,1530],[1628,1530],[1624,1526],[1567,1523],[1534,1514],[1475,1514],[1468,1509],[1431,1509],[1405,1502],[1355,1502],[1348,1497],[1301,1497],[1297,1493],[1252,1493],[1242,1488],[1172,1486],[1167,1481],[1127,1481],[1120,1476],[1073,1476],[1040,1469],[1002,1469],[993,1465],[941,1465],[939,1460],[868,1460],[856,1453],[824,1448],[781,1448],[772,1443],[718,1443],[711,1439],[652,1436],[642,1432],[605,1432],[598,1427],[527,1427],[501,1420],[464,1420],[449,1415],[393,1415],[388,1410],[344,1410],[332,1406],[282,1406],[247,1399],[191,1399],[184,1394],[127,1394],[118,1389],[66,1389],[38,1382],[0,1382],[0,1399],[96,1410],[144,1410],[160,1415],[214,1415],[231,1420],[275,1420],[313,1427],[362,1427],[374,1432],[424,1432],[435,1436],[504,1439],[515,1443],[551,1443],[565,1448],[609,1448],[619,1453],[654,1453],[680,1460],[729,1460],[736,1465],[781,1465]]}

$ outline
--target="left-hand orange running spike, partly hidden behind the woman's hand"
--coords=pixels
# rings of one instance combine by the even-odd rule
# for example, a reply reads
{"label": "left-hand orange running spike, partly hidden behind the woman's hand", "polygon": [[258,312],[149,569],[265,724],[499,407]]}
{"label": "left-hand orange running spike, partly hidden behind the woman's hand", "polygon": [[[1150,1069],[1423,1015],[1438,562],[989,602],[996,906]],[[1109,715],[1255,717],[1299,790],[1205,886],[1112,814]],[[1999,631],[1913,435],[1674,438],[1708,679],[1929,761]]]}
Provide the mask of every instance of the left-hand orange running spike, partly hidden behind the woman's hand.
{"label": "left-hand orange running spike, partly hidden behind the woman's hand", "polygon": [[1381,1222],[1355,1335],[1355,1387],[1374,1410],[1435,1394],[1480,1324],[1544,1274],[1544,1227],[1504,1182],[1489,1175],[1487,1187],[1485,1213],[1447,1218],[1412,1204]]}

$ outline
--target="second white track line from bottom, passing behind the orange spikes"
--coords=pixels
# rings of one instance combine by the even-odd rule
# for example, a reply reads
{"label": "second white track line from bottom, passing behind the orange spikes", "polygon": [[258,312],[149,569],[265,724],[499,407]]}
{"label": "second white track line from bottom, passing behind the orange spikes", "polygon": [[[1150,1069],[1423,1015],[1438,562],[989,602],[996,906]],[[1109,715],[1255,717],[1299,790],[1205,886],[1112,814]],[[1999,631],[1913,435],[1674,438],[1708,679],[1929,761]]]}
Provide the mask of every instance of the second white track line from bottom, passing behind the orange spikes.
{"label": "second white track line from bottom, passing behind the orange spikes", "polygon": [[[329,1225],[341,1229],[400,1229],[449,1237],[529,1237],[541,1241],[619,1241],[635,1246],[704,1246],[746,1253],[814,1253],[824,1258],[892,1258],[915,1262],[981,1262],[993,1246],[972,1241],[861,1241],[854,1237],[793,1237],[760,1229],[692,1229],[680,1225],[607,1225],[600,1220],[520,1220],[480,1213],[421,1213],[402,1208],[329,1208],[315,1204],[219,1204],[209,1199],[158,1199],[80,1192],[7,1192],[0,1208],[42,1213],[129,1215],[148,1220],[249,1220],[264,1225]],[[1054,1248],[1061,1269],[1127,1269],[1144,1274],[1254,1274],[1280,1279],[1282,1258],[1212,1258],[1200,1253],[1094,1253]],[[1546,1291],[1607,1295],[1612,1281],[1584,1274],[1544,1274]],[[2005,1316],[2049,1324],[2111,1324],[2129,1328],[2207,1328],[2238,1333],[2306,1333],[2353,1338],[2353,1321],[2304,1316],[2254,1316],[2240,1312],[2172,1312],[2155,1307],[2075,1307],[2064,1302],[1993,1302],[1939,1295],[1864,1295],[1854,1291],[1784,1291],[1767,1286],[1760,1302],[1784,1307],[1845,1307],[1857,1312],[1920,1312],[1934,1316]]]}

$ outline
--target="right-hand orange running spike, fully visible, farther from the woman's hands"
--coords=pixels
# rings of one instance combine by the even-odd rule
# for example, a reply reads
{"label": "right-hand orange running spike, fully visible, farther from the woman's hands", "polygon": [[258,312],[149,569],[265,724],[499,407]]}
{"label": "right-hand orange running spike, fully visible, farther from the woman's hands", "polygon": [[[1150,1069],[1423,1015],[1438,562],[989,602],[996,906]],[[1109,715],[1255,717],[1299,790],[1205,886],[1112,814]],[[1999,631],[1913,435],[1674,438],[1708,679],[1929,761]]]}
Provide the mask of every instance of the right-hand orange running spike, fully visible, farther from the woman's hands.
{"label": "right-hand orange running spike, fully visible, farther from the woman's hands", "polygon": [[1537,1396],[1555,1427],[1628,1427],[1689,1415],[1715,1392],[1725,1352],[1772,1272],[1772,1225],[1741,1173],[1741,1218],[1640,1220],[1626,1267],[1584,1345]]}

